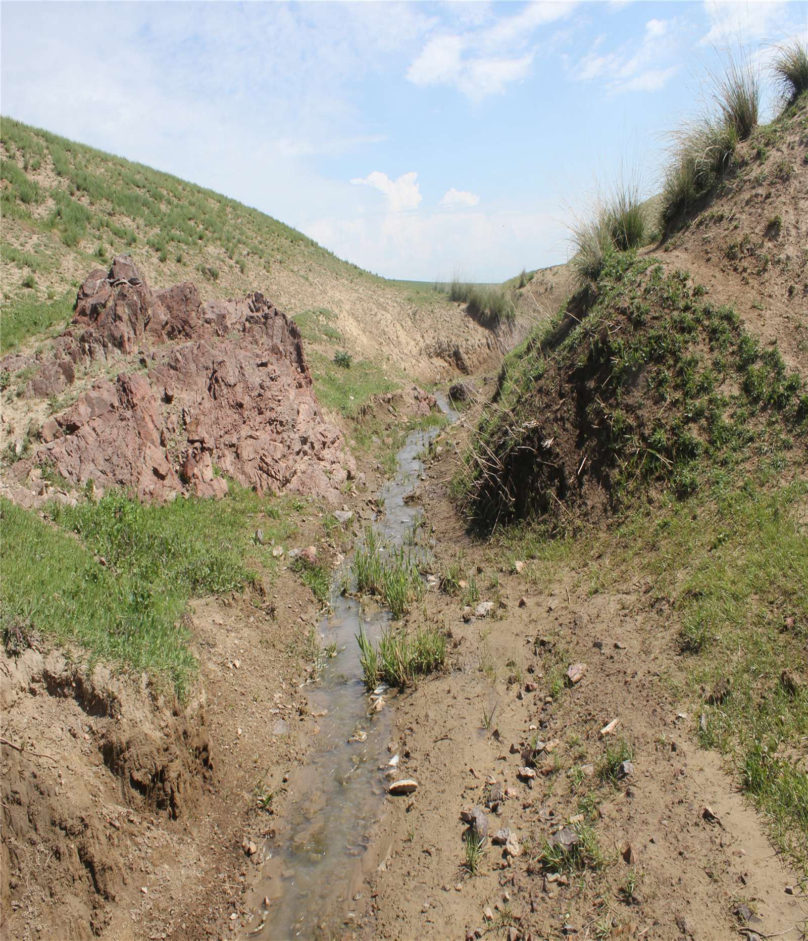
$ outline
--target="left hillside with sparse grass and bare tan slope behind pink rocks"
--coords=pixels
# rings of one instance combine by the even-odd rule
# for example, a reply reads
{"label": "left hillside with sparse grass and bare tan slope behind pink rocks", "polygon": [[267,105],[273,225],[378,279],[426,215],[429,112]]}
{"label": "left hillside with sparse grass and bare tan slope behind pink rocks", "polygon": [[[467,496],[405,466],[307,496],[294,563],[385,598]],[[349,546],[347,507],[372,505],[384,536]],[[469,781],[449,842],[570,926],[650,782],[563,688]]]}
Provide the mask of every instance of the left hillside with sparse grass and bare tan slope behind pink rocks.
{"label": "left hillside with sparse grass and bare tan slope behind pink rocks", "polygon": [[388,379],[449,373],[450,339],[471,361],[488,354],[445,296],[373,276],[234,199],[17,120],[3,119],[0,142],[4,350],[63,327],[87,272],[125,252],[158,287],[193,280],[203,298],[260,290],[292,316],[325,310],[331,334],[309,341]]}

